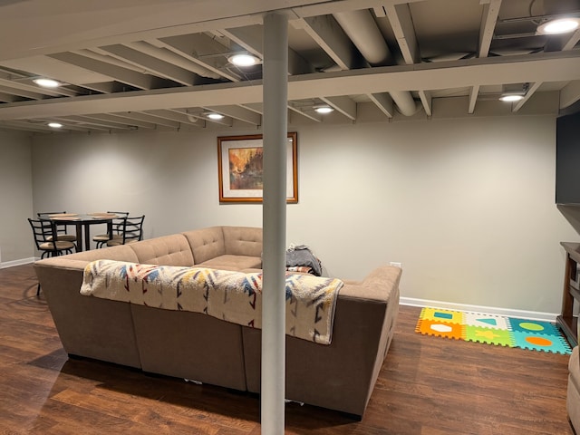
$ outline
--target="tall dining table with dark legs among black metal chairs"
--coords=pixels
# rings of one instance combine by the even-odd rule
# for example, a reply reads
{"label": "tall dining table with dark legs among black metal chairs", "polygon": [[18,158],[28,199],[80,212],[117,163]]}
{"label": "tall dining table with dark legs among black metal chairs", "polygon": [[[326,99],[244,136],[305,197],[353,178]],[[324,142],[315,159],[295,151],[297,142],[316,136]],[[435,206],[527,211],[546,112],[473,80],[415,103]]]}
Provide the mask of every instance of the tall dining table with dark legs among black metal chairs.
{"label": "tall dining table with dark legs among black metal chairs", "polygon": [[[53,239],[57,237],[57,225],[76,227],[76,250],[81,252],[84,237],[84,249],[91,249],[91,226],[97,224],[107,224],[107,233],[112,238],[112,220],[119,218],[114,213],[94,212],[94,213],[52,213],[40,215],[41,220],[48,220],[52,224]],[[84,230],[84,231],[83,231]]]}

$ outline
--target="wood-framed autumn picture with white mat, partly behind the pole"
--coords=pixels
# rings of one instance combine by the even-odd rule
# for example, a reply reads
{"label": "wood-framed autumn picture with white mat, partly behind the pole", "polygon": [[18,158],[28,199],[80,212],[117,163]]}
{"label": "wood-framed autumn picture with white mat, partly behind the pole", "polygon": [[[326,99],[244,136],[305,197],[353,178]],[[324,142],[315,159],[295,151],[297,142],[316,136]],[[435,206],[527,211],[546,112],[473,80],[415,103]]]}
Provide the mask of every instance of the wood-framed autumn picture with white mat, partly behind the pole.
{"label": "wood-framed autumn picture with white mat, partly behind the pole", "polygon": [[[286,202],[298,202],[297,134],[288,133]],[[219,202],[262,202],[263,155],[261,134],[218,138]]]}

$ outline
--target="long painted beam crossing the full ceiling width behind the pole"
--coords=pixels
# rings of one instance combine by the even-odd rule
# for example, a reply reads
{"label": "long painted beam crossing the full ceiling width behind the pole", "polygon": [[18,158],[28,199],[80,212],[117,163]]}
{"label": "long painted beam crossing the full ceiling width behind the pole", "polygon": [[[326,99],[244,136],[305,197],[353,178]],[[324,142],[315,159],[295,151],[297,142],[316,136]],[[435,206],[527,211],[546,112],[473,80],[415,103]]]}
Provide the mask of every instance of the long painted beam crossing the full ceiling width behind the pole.
{"label": "long painted beam crossing the full ceiling width behind the pole", "polygon": [[[391,91],[433,91],[505,82],[569,82],[580,71],[580,53],[537,53],[497,58],[469,59],[446,63],[376,67],[367,70],[314,73],[293,76],[288,81],[288,99],[373,94]],[[516,61],[517,59],[517,61]],[[218,83],[193,88],[156,89],[122,94],[89,95],[40,102],[14,102],[0,107],[0,119],[34,118],[72,113],[142,111],[191,106],[218,106],[262,102],[261,82]],[[95,106],[98,104],[98,106]]]}

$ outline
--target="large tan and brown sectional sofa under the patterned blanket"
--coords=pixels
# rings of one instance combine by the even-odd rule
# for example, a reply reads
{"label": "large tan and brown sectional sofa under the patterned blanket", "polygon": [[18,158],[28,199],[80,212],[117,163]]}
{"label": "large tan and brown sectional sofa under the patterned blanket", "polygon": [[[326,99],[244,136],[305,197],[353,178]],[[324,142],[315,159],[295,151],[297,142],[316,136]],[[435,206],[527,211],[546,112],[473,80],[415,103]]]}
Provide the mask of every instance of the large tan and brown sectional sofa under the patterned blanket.
{"label": "large tan and brown sectional sofa under the patterned blanket", "polygon": [[[260,271],[261,254],[261,228],[208,227],[46,258],[34,268],[70,355],[257,393],[259,329],[81,295],[80,288],[93,260],[253,273]],[[344,281],[329,345],[286,335],[287,399],[362,416],[391,344],[400,278],[400,268],[382,266],[362,281]]]}

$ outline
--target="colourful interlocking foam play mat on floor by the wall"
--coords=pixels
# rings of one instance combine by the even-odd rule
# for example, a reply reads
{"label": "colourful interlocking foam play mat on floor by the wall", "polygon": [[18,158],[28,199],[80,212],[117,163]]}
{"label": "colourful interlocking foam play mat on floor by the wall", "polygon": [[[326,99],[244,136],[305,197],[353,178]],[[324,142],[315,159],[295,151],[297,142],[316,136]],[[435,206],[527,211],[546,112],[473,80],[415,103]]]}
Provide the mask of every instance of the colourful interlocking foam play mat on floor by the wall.
{"label": "colourful interlocking foam play mat on floor by the wall", "polygon": [[415,332],[532,351],[572,353],[556,324],[496,314],[426,307],[420,312]]}

